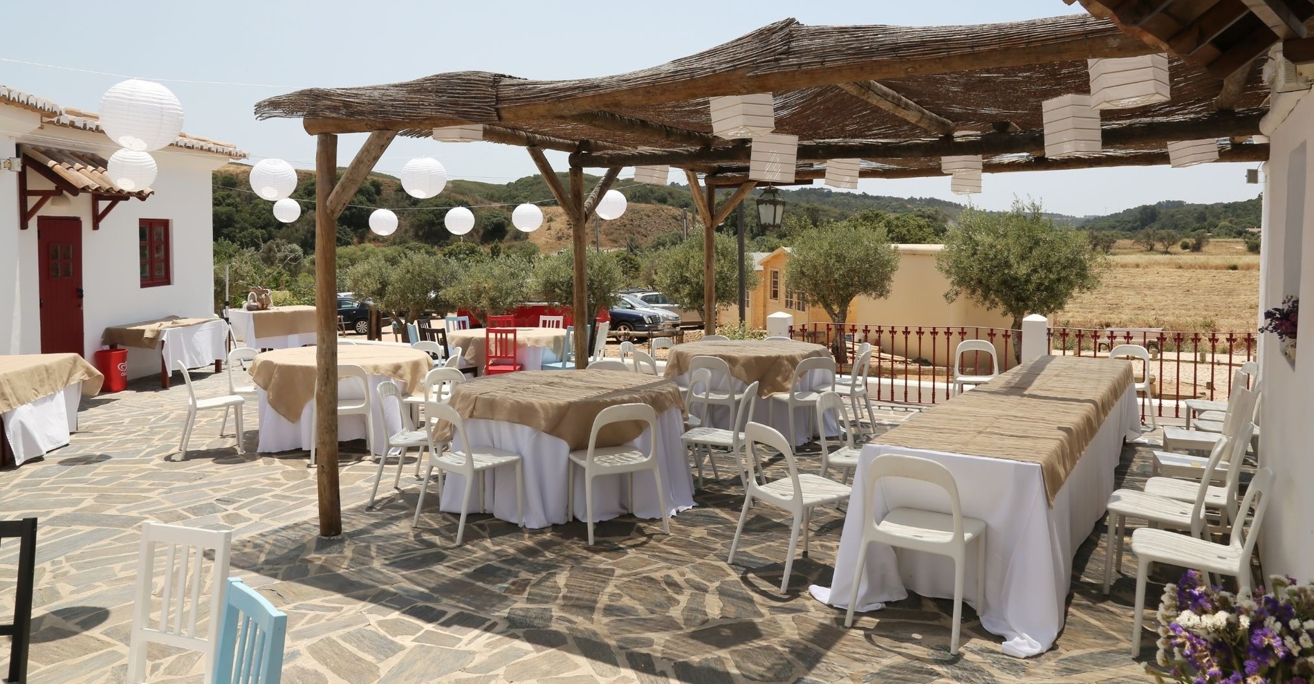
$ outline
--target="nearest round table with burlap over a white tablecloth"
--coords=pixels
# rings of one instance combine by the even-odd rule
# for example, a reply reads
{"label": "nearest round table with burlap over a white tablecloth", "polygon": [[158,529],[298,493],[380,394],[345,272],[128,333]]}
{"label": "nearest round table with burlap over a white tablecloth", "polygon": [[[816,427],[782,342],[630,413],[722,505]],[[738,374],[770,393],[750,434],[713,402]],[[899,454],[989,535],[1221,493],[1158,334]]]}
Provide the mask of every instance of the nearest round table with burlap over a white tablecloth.
{"label": "nearest round table with burlap over a white tablecloth", "polygon": [[[493,446],[524,458],[524,524],[530,528],[586,519],[583,469],[574,469],[566,482],[572,450],[587,449],[598,414],[624,403],[649,404],[657,410],[657,435],[639,423],[616,424],[598,435],[598,446],[633,442],[646,449],[656,438],[656,457],[665,488],[666,513],[694,507],[694,478],[689,471],[683,433],[683,398],[668,379],[619,370],[522,370],[476,378],[456,386],[448,403],[461,415],[472,446]],[[456,448],[460,448],[457,445]],[[506,470],[505,473],[502,470]],[[485,475],[484,500],[470,500],[472,512],[491,511],[501,520],[515,521],[515,475],[510,469]],[[628,500],[627,475],[594,479],[594,521],[625,512],[637,517],[661,517],[657,487],[650,473],[635,474],[635,500]],[[574,487],[574,511],[566,511],[566,487]],[[461,511],[464,477],[448,474],[440,509]]]}

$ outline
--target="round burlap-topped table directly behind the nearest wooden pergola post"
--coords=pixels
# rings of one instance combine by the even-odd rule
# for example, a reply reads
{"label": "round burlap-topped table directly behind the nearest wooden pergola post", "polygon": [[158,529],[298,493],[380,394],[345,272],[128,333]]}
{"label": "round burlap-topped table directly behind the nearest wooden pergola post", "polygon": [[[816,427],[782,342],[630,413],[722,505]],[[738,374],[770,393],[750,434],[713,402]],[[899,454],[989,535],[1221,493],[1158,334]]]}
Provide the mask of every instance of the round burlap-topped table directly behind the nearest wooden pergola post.
{"label": "round burlap-topped table directly behind the nearest wooden pergola post", "polygon": [[[384,453],[388,436],[402,429],[401,414],[396,410],[384,411],[378,406],[376,389],[378,383],[392,379],[401,385],[402,394],[419,391],[424,374],[434,368],[430,356],[419,349],[392,345],[340,344],[338,345],[339,365],[357,365],[365,369],[369,379],[369,399],[374,433],[371,438],[372,450]],[[311,412],[315,395],[315,348],[297,347],[261,352],[247,366],[256,385],[260,412],[259,452],[285,452],[306,449],[314,444]],[[359,383],[339,383],[338,395],[343,399],[359,398]],[[365,417],[359,415],[342,416],[338,420],[338,441],[365,437]]]}

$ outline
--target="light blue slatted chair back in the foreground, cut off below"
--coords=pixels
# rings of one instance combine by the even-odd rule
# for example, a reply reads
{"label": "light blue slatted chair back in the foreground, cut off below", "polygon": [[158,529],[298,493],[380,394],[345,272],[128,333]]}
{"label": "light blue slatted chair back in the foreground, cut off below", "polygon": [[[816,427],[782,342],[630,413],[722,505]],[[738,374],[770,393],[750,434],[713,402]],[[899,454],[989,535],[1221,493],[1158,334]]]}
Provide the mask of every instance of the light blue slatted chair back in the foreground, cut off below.
{"label": "light blue slatted chair back in the foreground, cut off below", "polygon": [[247,587],[229,578],[214,684],[279,684],[288,616]]}

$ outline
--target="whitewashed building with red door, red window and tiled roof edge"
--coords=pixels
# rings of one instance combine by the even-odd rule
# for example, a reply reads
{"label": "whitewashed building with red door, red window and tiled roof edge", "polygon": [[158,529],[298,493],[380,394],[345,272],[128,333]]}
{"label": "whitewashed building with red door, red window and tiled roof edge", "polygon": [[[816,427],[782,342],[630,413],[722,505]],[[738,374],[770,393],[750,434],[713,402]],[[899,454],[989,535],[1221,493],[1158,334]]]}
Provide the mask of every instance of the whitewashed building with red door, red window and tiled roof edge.
{"label": "whitewashed building with red door, red window and tiled roof edge", "polygon": [[[246,152],[180,134],[127,193],[116,150],[95,113],[0,85],[0,354],[91,358],[106,326],[214,315],[210,172]],[[129,351],[130,378],[158,372]]]}

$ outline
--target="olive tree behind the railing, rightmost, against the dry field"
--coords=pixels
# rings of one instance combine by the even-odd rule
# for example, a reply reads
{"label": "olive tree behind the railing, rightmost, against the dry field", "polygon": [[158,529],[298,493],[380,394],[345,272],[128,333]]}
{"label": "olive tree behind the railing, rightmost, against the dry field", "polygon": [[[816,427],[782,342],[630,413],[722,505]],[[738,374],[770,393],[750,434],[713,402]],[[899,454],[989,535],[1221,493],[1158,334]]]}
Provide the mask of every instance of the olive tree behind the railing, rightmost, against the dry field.
{"label": "olive tree behind the railing, rightmost, against the dry field", "polygon": [[[949,278],[945,299],[967,295],[1013,318],[1050,315],[1074,294],[1100,285],[1105,256],[1087,236],[1054,226],[1038,202],[1013,201],[1004,213],[967,209],[945,235],[936,267]],[[1021,353],[1021,340],[1014,347]]]}

